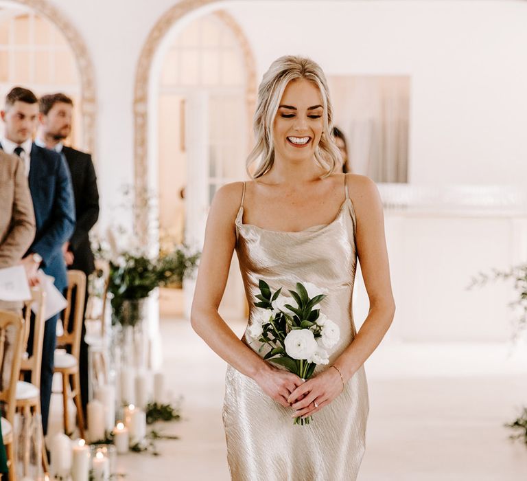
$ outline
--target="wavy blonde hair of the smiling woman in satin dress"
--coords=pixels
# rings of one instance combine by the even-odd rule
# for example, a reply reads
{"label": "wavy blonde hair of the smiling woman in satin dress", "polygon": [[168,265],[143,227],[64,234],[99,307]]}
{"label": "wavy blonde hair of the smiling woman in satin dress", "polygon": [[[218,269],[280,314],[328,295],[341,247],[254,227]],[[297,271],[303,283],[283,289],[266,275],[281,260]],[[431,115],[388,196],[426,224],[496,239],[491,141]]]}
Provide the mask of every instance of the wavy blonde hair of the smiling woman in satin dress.
{"label": "wavy blonde hair of the smiling woman in satin dress", "polygon": [[[315,149],[316,163],[325,171],[322,177],[331,175],[342,165],[340,152],[333,138],[333,107],[329,100],[329,88],[324,72],[320,65],[310,58],[287,55],[274,60],[258,87],[258,103],[253,121],[256,144],[247,157],[247,170],[253,179],[268,173],[274,164],[274,117],[277,115],[285,87],[292,80],[299,78],[313,82],[322,97],[324,130]],[[251,174],[249,167],[253,162],[257,164]]]}

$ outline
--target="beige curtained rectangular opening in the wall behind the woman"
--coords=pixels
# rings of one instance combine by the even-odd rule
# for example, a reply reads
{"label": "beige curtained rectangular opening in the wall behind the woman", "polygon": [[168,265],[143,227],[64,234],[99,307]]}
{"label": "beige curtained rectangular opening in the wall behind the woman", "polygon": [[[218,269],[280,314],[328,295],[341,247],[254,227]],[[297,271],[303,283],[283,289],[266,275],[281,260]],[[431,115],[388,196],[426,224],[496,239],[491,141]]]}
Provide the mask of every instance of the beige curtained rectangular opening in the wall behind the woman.
{"label": "beige curtained rectangular opening in the wall behind the woman", "polygon": [[410,78],[331,76],[328,81],[351,171],[377,182],[407,182]]}

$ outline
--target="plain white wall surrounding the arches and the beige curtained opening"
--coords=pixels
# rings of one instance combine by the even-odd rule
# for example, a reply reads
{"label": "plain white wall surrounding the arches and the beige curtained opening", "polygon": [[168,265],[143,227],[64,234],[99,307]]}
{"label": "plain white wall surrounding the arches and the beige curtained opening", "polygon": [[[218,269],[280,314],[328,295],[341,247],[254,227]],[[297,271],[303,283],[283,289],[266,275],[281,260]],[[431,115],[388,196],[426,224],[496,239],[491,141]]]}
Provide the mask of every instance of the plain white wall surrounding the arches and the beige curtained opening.
{"label": "plain white wall surrounding the arches and the beige curtained opening", "polygon": [[[50,1],[78,28],[95,65],[97,170],[104,204],[112,205],[115,186],[132,182],[137,60],[150,29],[174,1]],[[285,53],[312,56],[327,74],[412,76],[412,183],[527,179],[527,2],[221,5],[248,36],[259,77]],[[103,222],[110,217],[108,209],[102,212]]]}

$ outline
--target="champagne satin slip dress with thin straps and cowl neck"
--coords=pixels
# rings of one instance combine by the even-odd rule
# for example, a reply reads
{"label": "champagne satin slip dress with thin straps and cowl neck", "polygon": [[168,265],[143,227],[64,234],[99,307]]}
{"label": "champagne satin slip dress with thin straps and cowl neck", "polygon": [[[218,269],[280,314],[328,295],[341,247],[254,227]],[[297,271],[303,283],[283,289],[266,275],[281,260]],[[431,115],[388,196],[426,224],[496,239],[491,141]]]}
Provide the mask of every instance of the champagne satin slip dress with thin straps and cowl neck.
{"label": "champagne satin slip dress with thin straps and cowl neck", "polygon": [[[340,340],[328,366],[349,346],[355,336],[351,295],[357,253],[355,212],[344,176],[346,198],[330,224],[301,232],[277,232],[243,223],[242,205],[235,221],[236,251],[250,305],[248,326],[254,309],[258,281],[264,279],[274,291],[295,289],[296,282],[312,282],[327,289],[320,312],[340,327]],[[261,344],[248,333],[242,338],[258,352]],[[267,352],[263,350],[262,356]],[[227,459],[234,481],[353,481],[362,455],[368,388],[364,367],[347,382],[332,403],[314,414],[309,425],[293,425],[292,409],[270,399],[257,383],[232,366],[226,372],[223,421]]]}

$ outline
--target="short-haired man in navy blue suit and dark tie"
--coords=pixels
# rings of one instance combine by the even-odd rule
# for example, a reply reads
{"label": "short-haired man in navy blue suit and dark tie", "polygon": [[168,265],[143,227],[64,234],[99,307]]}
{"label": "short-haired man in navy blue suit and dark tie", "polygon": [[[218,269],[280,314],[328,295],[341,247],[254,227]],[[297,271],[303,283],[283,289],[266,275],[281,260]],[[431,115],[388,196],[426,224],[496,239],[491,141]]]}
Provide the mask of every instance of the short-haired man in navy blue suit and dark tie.
{"label": "short-haired man in navy blue suit and dark tie", "polygon": [[[32,142],[38,122],[38,100],[32,91],[14,87],[5,98],[5,109],[0,115],[5,122],[1,147],[7,153],[15,153],[23,159],[35,211],[35,239],[22,262],[30,282],[36,282],[38,269],[43,269],[47,275],[54,277],[55,286],[63,292],[68,281],[62,245],[75,229],[75,203],[68,167],[60,154]],[[44,328],[40,403],[45,434],[51,400],[57,320],[58,315],[51,317]],[[32,333],[28,348],[32,347],[31,339]]]}

